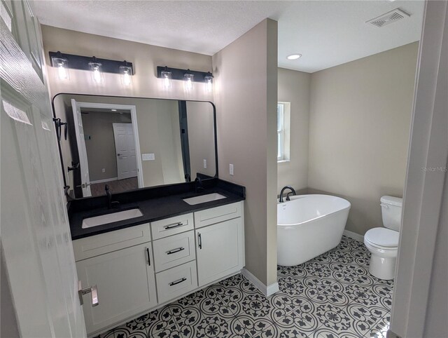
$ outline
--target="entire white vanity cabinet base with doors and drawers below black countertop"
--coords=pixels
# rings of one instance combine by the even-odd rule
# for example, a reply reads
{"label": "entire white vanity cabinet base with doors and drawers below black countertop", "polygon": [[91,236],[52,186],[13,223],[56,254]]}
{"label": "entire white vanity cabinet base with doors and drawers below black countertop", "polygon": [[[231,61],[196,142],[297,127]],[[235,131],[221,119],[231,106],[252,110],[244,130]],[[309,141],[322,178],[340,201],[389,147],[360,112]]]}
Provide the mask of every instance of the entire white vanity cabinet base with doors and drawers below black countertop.
{"label": "entire white vanity cabinet base with doors and drawers below black countertop", "polygon": [[[87,333],[97,334],[155,306],[238,273],[244,266],[243,202],[73,241]],[[157,288],[156,288],[157,285]]]}

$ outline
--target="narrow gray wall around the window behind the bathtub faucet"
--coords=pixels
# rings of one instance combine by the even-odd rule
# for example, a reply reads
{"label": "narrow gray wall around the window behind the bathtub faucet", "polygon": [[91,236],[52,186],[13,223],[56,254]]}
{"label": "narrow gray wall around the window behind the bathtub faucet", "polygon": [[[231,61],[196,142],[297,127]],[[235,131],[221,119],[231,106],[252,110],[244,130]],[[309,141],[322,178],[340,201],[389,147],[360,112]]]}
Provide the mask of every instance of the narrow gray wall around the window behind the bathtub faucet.
{"label": "narrow gray wall around the window behind the bathtub faucet", "polygon": [[309,88],[311,74],[279,68],[279,101],[290,102],[290,161],[278,163],[277,194],[282,187],[308,187]]}

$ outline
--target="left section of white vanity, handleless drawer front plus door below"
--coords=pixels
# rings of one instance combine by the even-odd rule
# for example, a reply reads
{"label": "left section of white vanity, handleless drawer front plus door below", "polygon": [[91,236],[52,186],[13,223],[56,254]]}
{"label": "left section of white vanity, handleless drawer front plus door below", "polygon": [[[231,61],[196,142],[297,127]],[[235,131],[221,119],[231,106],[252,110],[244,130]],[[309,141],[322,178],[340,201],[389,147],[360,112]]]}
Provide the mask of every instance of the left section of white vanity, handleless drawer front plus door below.
{"label": "left section of white vanity, handleless drawer front plus door below", "polygon": [[78,279],[83,286],[97,285],[97,306],[84,295],[88,333],[158,304],[149,224],[81,238],[73,241],[73,249]]}

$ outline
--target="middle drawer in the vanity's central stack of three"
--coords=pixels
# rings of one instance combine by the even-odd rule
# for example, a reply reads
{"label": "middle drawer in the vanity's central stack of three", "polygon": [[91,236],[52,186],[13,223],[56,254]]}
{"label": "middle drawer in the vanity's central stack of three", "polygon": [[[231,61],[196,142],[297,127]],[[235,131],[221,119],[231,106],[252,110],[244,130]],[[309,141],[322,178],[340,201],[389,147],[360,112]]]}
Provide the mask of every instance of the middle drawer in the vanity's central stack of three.
{"label": "middle drawer in the vanity's central stack of three", "polygon": [[160,272],[196,258],[194,231],[184,232],[153,242],[155,272]]}

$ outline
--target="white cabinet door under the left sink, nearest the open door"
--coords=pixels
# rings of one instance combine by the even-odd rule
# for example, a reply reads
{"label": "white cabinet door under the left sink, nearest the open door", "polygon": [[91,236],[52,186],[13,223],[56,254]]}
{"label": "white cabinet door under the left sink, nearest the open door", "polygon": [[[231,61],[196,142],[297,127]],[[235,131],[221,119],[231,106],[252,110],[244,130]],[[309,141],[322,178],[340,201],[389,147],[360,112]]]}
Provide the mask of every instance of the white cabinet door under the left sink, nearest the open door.
{"label": "white cabinet door under the left sink, nearest the open door", "polygon": [[[157,304],[151,243],[76,263],[83,285],[97,285],[99,305],[84,306],[87,333],[150,309]],[[84,303],[90,304],[90,295]]]}

